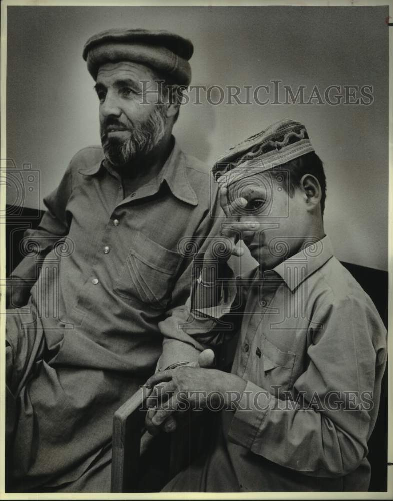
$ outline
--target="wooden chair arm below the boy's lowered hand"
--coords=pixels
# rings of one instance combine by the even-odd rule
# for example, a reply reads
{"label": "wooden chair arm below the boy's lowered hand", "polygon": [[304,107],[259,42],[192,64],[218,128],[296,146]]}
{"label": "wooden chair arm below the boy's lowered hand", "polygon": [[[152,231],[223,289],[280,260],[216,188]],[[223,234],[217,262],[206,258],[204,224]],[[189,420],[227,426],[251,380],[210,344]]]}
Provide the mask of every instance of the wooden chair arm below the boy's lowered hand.
{"label": "wooden chair arm below the boy's lowered hand", "polygon": [[153,438],[147,433],[143,435],[145,413],[141,412],[151,391],[140,388],[113,416],[111,492],[137,490],[141,447],[146,448]]}

